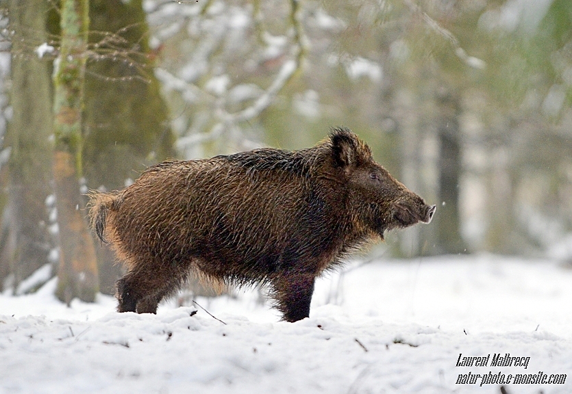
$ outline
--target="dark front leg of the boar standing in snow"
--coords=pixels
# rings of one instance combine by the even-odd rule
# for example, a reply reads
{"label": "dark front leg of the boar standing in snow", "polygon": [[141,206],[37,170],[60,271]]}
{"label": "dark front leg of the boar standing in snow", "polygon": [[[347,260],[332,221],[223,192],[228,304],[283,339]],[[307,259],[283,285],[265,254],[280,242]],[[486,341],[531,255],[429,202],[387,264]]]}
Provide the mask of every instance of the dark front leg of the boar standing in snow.
{"label": "dark front leg of the boar standing in snow", "polygon": [[290,273],[274,280],[271,296],[276,300],[283,320],[298,321],[310,316],[313,292],[314,275]]}

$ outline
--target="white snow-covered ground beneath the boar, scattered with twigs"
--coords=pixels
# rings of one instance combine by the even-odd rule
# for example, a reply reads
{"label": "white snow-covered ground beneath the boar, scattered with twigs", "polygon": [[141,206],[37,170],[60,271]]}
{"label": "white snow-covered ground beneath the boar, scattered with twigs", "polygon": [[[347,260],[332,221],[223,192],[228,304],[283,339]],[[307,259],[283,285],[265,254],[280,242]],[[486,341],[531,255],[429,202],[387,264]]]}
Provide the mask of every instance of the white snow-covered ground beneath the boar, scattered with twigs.
{"label": "white snow-covered ground beneath the boar, scattered with twigs", "polygon": [[[572,270],[552,261],[356,262],[320,280],[294,324],[256,291],[197,300],[223,324],[175,302],[157,315],[116,313],[108,296],[67,308],[54,287],[0,296],[0,393],[484,394],[501,393],[481,386],[499,373],[510,394],[572,393]],[[507,353],[527,367],[492,365]],[[514,382],[539,373],[567,378]]]}

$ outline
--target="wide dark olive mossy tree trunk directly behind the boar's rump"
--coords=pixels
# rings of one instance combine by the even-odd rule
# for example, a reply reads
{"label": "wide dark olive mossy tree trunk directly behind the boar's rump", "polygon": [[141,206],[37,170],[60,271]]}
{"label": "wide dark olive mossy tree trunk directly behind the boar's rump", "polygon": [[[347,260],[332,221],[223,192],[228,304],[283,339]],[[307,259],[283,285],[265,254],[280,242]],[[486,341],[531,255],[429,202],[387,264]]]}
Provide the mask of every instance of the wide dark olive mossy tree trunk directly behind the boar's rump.
{"label": "wide dark olive mossy tree trunk directly behind the boar's rump", "polygon": [[[112,47],[101,40],[114,37],[113,49],[119,52],[87,64],[84,163],[92,189],[121,189],[145,166],[175,155],[145,17],[142,0],[90,0],[91,44],[108,53]],[[96,249],[101,291],[114,293],[122,267],[114,264],[107,245],[96,244]]]}

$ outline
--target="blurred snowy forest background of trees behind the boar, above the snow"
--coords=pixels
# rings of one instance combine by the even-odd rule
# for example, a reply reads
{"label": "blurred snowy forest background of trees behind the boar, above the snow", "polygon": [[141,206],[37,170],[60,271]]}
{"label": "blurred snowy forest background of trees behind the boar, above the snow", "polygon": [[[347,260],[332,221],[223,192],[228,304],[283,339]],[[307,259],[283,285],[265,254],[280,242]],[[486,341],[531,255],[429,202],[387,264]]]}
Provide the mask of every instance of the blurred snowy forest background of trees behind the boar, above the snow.
{"label": "blurred snowy forest background of trees behind the boar, above the snow", "polygon": [[86,192],[347,126],[438,211],[371,254],[572,261],[568,0],[0,1],[0,286],[121,267]]}

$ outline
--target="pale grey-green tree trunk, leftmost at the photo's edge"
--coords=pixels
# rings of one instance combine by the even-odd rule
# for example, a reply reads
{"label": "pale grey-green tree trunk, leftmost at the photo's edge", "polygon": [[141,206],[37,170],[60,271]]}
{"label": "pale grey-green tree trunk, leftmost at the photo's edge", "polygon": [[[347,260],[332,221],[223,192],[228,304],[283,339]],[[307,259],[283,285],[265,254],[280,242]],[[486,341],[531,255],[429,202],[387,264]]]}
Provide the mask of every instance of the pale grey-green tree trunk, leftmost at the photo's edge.
{"label": "pale grey-green tree trunk, leftmost at the photo's edge", "polygon": [[45,200],[51,194],[51,85],[49,64],[29,50],[46,42],[47,7],[43,0],[11,0],[10,29],[13,116],[5,146],[10,147],[8,215],[11,241],[1,261],[18,284],[49,263],[53,247]]}

